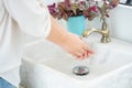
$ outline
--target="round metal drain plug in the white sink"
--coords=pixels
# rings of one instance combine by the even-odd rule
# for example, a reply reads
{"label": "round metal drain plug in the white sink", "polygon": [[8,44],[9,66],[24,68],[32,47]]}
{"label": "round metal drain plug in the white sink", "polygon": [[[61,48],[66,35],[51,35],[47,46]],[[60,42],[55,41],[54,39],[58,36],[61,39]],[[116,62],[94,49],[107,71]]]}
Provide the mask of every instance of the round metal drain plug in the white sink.
{"label": "round metal drain plug in the white sink", "polygon": [[76,66],[74,67],[73,73],[78,76],[86,76],[89,74],[89,68],[86,66]]}

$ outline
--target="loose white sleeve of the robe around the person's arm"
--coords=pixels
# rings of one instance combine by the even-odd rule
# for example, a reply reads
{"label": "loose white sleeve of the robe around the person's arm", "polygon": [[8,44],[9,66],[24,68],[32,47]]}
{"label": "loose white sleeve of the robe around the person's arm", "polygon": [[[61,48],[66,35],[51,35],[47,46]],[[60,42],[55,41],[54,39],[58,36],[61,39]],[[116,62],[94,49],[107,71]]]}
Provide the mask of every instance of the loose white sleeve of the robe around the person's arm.
{"label": "loose white sleeve of the robe around the person's arm", "polygon": [[46,37],[51,32],[51,15],[41,0],[3,0],[6,9],[29,35]]}

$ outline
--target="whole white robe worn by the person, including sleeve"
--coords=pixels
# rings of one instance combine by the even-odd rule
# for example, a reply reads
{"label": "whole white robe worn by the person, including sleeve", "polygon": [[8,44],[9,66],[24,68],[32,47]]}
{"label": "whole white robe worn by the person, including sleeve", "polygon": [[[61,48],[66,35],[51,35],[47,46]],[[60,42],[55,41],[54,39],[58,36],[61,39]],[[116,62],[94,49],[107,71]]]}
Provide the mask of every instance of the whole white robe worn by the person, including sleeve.
{"label": "whole white robe worn by the person, including sleeve", "polygon": [[0,0],[0,74],[21,64],[26,35],[51,32],[47,8],[41,0]]}

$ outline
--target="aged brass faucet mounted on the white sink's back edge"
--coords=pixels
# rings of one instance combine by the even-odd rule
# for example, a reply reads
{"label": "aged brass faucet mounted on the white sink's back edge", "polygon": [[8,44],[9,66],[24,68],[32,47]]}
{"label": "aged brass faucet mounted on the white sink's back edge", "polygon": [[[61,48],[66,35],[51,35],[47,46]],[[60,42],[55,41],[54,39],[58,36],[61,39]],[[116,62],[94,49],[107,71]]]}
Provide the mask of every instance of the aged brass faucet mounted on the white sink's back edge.
{"label": "aged brass faucet mounted on the white sink's back edge", "polygon": [[102,26],[101,26],[101,29],[91,28],[91,29],[85,30],[84,33],[82,33],[82,37],[87,37],[87,36],[89,36],[94,32],[98,32],[98,33],[100,33],[102,35],[101,43],[109,43],[109,42],[111,42],[111,38],[109,36],[109,29],[108,29],[106,19],[102,19]]}

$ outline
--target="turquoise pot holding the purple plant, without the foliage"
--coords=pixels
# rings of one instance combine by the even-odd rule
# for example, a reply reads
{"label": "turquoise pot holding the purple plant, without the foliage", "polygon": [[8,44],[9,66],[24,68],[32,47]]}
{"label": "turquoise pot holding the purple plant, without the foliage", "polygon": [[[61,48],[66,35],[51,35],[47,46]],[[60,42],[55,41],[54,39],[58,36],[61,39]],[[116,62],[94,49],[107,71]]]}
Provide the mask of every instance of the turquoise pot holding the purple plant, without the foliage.
{"label": "turquoise pot holding the purple plant, without the foliage", "polygon": [[86,19],[84,15],[70,16],[67,21],[67,29],[69,32],[81,35],[86,29]]}

